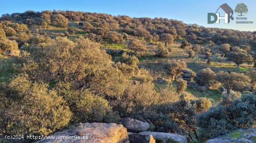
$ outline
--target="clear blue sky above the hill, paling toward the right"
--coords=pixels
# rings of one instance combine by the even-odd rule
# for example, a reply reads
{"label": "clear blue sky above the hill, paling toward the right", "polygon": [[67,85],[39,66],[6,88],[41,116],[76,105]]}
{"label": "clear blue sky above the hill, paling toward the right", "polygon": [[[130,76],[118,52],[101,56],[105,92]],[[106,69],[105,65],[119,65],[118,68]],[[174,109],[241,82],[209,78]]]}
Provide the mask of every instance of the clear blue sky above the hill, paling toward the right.
{"label": "clear blue sky above the hill, paling toward the right", "polygon": [[[235,19],[229,24],[224,24],[223,20],[220,24],[208,24],[207,13],[215,13],[223,3],[233,10],[238,3],[246,4],[248,13],[244,17],[247,21],[253,21],[253,24],[236,24],[236,12],[233,14]],[[0,0],[0,15],[27,10],[72,10],[130,17],[162,17],[205,27],[256,31],[255,7],[256,0]],[[224,16],[223,13],[220,15]]]}

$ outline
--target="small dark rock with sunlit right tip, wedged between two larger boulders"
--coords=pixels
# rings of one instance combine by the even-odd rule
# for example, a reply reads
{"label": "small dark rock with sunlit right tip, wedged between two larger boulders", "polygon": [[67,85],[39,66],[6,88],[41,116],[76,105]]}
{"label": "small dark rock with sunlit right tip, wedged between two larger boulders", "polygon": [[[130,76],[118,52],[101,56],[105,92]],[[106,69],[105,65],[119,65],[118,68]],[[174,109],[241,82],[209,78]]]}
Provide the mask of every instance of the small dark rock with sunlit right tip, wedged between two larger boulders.
{"label": "small dark rock with sunlit right tip, wedged between two larger boulders", "polygon": [[155,139],[152,135],[128,132],[128,137],[130,143],[155,143]]}

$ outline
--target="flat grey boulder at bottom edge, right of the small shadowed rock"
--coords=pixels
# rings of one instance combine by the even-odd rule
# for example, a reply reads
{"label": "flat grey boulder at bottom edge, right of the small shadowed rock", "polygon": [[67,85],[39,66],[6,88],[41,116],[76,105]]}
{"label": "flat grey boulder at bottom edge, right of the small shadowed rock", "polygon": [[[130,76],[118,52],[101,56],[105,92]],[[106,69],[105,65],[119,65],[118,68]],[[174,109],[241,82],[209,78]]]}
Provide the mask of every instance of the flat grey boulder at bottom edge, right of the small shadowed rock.
{"label": "flat grey boulder at bottom edge, right of the small shadowed rock", "polygon": [[187,138],[173,133],[165,133],[165,132],[153,132],[153,131],[142,131],[140,132],[144,135],[152,135],[156,141],[156,143],[187,143]]}

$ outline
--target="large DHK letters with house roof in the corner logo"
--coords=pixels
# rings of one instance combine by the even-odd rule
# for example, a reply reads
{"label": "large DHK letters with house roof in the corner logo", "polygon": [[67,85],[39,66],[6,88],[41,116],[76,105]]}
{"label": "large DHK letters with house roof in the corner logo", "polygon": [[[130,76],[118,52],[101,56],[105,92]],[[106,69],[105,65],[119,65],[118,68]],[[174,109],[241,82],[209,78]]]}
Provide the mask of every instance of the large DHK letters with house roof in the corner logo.
{"label": "large DHK letters with house roof in the corner logo", "polygon": [[[222,10],[225,12],[224,17],[220,16],[220,13],[218,13],[218,10],[222,8]],[[228,24],[230,22],[230,19],[233,20],[233,9],[226,3],[222,4],[215,13],[208,13],[208,24],[214,24],[214,23],[220,23],[220,19],[224,19],[224,23]],[[211,18],[214,18],[211,20]]]}

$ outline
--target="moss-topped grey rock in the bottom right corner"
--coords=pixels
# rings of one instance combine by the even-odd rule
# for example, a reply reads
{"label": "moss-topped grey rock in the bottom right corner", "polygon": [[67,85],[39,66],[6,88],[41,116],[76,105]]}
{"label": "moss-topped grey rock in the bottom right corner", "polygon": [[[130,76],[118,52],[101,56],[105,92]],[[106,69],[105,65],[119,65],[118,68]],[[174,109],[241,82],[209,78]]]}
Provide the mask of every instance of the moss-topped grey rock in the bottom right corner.
{"label": "moss-topped grey rock in the bottom right corner", "polygon": [[256,129],[239,129],[210,139],[206,143],[256,143]]}

